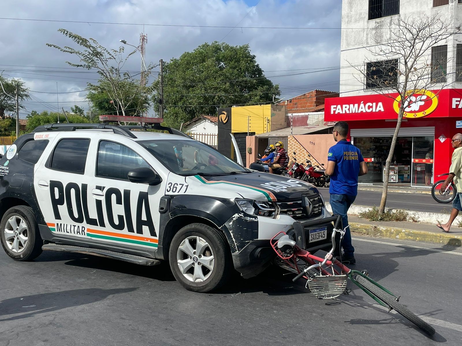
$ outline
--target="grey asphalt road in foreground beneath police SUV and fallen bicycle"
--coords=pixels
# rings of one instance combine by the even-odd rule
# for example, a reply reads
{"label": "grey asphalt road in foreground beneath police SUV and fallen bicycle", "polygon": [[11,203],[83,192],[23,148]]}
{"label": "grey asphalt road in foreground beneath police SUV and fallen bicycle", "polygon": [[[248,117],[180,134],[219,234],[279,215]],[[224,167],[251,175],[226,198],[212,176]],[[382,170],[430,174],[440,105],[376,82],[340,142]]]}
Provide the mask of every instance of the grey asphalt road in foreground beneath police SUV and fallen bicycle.
{"label": "grey asphalt road in foreground beneath police SUV and fallen bicycle", "polygon": [[15,262],[1,251],[0,344],[462,344],[461,250],[353,241],[356,268],[367,268],[401,295],[402,304],[425,316],[437,330],[433,339],[351,283],[348,296],[318,300],[301,280],[293,284],[292,274],[268,270],[219,292],[193,293],[165,268],[59,252]]}

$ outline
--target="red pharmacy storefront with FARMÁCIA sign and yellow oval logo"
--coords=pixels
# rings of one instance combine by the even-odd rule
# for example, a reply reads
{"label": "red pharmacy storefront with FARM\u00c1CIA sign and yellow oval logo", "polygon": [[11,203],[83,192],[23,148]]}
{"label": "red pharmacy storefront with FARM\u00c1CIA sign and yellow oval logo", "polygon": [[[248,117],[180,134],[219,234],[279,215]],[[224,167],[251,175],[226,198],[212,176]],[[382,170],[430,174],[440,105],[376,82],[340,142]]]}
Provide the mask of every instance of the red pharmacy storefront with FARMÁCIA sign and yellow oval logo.
{"label": "red pharmacy storefront with FARM\u00c1CIA sign and yellow oval logo", "polygon": [[[462,89],[422,89],[407,96],[390,184],[431,186],[438,174],[448,172],[451,138],[462,133],[461,99]],[[369,174],[359,177],[359,182],[383,184],[401,99],[397,94],[362,95],[327,98],[325,102],[324,120],[348,122],[349,138],[365,158]]]}

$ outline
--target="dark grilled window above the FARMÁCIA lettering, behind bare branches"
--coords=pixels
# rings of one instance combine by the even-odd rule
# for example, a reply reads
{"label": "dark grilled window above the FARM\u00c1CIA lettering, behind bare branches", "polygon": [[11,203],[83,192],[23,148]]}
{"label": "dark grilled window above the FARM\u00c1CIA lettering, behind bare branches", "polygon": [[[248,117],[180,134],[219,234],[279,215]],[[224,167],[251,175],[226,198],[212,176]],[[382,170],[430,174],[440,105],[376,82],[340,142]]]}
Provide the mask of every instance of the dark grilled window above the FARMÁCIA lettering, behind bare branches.
{"label": "dark grilled window above the FARM\u00c1CIA lettering, behind bare branches", "polygon": [[368,62],[366,89],[386,89],[398,83],[398,59]]}

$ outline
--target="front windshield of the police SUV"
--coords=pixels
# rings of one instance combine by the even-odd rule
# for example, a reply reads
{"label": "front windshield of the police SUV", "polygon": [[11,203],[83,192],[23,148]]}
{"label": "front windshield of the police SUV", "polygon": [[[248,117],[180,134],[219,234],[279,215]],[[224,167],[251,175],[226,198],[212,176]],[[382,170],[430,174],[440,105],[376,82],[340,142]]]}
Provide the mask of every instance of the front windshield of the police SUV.
{"label": "front windshield of the police SUV", "polygon": [[158,161],[179,175],[227,175],[249,173],[204,143],[194,140],[167,139],[139,141]]}

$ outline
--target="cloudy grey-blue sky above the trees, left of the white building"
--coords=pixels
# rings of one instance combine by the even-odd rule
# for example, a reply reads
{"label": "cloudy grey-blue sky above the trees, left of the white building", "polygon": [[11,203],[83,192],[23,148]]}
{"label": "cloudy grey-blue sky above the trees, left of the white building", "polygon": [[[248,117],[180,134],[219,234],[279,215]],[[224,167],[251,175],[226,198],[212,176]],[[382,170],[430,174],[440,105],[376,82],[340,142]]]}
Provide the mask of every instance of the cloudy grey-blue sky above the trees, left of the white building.
{"label": "cloudy grey-blue sky above the trees, left of the white building", "polygon": [[[32,91],[31,100],[24,103],[27,112],[21,118],[33,109],[56,110],[56,83],[60,109],[69,110],[74,104],[88,108],[86,92],[74,91],[84,90],[87,82],[97,81],[98,75],[68,66],[65,61],[76,61],[73,56],[46,46],[46,43],[60,46],[73,43],[58,33],[59,28],[117,49],[120,39],[137,46],[146,24],[146,64],[179,57],[204,42],[249,43],[265,75],[274,84],[280,84],[283,97],[312,89],[338,91],[339,88],[336,67],[340,65],[340,30],[241,29],[241,26],[339,28],[339,0],[3,0],[0,16],[3,17],[0,71],[6,78],[22,78]],[[237,28],[230,32],[226,28],[148,24],[237,25]],[[126,67],[129,71],[139,71],[140,54],[134,54]]]}

